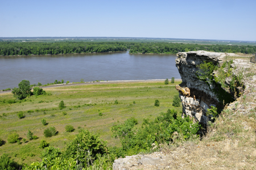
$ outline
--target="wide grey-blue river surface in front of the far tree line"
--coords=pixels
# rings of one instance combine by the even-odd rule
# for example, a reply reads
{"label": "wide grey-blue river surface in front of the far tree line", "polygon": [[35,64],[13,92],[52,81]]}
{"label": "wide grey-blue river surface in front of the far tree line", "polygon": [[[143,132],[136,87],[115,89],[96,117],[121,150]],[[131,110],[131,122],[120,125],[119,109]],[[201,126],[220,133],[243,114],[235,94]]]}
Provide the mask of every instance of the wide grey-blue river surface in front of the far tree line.
{"label": "wide grey-blue river surface in front of the far tree line", "polygon": [[107,52],[50,56],[0,57],[0,89],[18,87],[22,80],[47,84],[95,80],[180,78],[175,55],[130,55]]}

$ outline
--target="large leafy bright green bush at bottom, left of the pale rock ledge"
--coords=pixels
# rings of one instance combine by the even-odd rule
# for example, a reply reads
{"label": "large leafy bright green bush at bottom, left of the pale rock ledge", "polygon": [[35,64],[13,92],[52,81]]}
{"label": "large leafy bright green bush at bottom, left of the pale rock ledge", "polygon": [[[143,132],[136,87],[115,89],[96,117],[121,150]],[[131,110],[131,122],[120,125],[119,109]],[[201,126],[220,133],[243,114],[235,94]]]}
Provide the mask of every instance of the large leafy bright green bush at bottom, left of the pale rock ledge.
{"label": "large leafy bright green bush at bottom, left of the pale rock ledge", "polygon": [[95,160],[97,155],[108,153],[106,142],[98,135],[94,135],[87,130],[81,130],[75,139],[67,145],[64,151],[64,157],[77,159],[78,163],[84,164],[87,159]]}

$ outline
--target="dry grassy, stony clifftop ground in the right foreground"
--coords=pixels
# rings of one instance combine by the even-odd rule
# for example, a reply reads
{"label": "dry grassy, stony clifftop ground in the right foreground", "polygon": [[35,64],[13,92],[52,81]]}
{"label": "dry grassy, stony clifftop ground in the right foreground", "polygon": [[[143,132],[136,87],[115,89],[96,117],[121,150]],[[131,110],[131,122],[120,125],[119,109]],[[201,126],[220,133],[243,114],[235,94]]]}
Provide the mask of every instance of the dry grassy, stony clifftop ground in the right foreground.
{"label": "dry grassy, stony clifftop ground in the right foreground", "polygon": [[158,152],[115,160],[113,169],[256,169],[255,64],[237,68],[246,89],[230,103],[201,140],[177,141]]}

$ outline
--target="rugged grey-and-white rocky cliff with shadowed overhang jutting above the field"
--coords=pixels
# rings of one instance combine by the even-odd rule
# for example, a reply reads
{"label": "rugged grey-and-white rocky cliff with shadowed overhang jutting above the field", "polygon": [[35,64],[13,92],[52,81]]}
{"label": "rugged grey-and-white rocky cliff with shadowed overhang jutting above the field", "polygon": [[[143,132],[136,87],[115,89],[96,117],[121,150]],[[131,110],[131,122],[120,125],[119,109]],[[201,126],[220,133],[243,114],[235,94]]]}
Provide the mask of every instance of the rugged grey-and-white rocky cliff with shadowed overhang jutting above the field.
{"label": "rugged grey-and-white rocky cliff with shadowed overhang jutting above the field", "polygon": [[[234,57],[234,53],[217,53],[207,51],[190,51],[177,53],[176,67],[179,70],[182,83],[180,86],[176,86],[176,89],[180,92],[181,103],[183,105],[183,114],[189,115],[195,118],[195,121],[201,123],[207,123],[207,109],[211,109],[211,106],[221,108],[223,104],[234,101],[242,93],[242,88],[238,85],[235,90],[224,88],[220,85],[220,82],[210,80],[202,80],[200,78],[201,70],[200,64],[212,63],[213,66],[220,67],[222,64],[228,61],[229,57]],[[234,62],[230,65],[231,69],[238,69],[241,66],[245,66],[241,62]],[[217,68],[216,67],[216,68]],[[230,69],[229,68],[229,69]],[[225,68],[224,72],[225,71]],[[230,70],[231,70],[230,69]],[[237,77],[238,72],[232,72],[234,77]],[[212,77],[218,77],[218,72],[214,71]],[[229,77],[224,77],[225,85],[229,85]],[[241,85],[242,86],[242,85]],[[184,94],[184,91],[189,91],[188,94]],[[220,94],[223,93],[223,94]],[[228,99],[222,96],[229,96]],[[226,101],[223,101],[226,99]]]}

